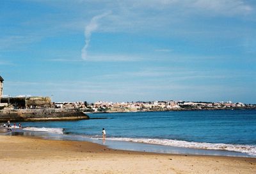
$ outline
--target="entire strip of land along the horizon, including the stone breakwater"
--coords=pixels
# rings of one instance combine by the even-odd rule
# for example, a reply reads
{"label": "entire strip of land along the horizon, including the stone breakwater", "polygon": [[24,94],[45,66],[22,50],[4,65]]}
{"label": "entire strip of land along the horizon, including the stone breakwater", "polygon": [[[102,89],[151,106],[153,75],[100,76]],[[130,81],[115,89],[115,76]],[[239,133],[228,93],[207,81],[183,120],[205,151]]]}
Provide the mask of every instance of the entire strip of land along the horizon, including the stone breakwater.
{"label": "entire strip of land along the horizon, including the stone breakwater", "polygon": [[256,109],[256,104],[241,102],[52,102],[50,97],[3,97],[0,122],[34,122],[90,119],[86,113],[132,113],[154,111],[204,111]]}

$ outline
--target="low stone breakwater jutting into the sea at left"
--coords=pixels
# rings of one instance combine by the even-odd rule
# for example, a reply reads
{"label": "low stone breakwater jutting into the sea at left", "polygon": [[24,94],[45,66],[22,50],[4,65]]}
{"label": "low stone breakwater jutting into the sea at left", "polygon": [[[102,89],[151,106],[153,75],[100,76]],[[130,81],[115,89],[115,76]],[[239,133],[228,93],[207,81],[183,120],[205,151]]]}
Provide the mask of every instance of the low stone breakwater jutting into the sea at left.
{"label": "low stone breakwater jutting into the sea at left", "polygon": [[0,110],[0,122],[35,122],[52,120],[89,119],[77,109],[3,109]]}

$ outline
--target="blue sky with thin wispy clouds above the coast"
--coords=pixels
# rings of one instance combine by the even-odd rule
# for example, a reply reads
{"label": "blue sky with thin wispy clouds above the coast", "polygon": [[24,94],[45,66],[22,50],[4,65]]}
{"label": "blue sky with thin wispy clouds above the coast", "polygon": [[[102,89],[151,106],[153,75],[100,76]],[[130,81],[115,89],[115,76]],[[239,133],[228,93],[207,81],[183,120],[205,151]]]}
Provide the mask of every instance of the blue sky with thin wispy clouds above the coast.
{"label": "blue sky with thin wispy clouds above the coast", "polygon": [[256,103],[256,1],[1,0],[4,95]]}

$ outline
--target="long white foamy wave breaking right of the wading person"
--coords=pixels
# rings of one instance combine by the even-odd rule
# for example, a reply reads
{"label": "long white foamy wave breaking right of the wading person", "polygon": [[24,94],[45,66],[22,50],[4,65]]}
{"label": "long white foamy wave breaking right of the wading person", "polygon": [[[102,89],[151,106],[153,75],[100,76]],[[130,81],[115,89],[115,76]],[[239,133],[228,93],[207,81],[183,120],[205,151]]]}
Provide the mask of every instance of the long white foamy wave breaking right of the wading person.
{"label": "long white foamy wave breaking right of the wading person", "polygon": [[145,139],[145,138],[108,138],[113,141],[132,141],[136,143],[148,143],[154,145],[177,146],[184,148],[199,148],[207,150],[228,150],[234,152],[242,152],[256,156],[256,146],[253,145],[232,145],[224,143],[199,143],[180,141],[176,139]]}

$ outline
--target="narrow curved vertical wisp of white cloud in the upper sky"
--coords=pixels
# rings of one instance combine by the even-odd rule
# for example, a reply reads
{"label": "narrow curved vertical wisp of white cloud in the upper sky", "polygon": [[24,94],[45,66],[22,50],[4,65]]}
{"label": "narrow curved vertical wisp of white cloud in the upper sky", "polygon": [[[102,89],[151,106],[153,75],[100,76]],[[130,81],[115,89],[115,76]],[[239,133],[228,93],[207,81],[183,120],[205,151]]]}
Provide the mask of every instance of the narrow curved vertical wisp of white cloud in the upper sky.
{"label": "narrow curved vertical wisp of white cloud in the upper sky", "polygon": [[91,35],[94,31],[96,31],[99,28],[99,20],[102,19],[103,17],[106,17],[110,13],[111,12],[107,12],[107,13],[103,13],[101,15],[97,15],[93,17],[90,23],[87,26],[85,26],[84,28],[85,45],[81,51],[82,59],[86,60],[88,58],[87,49],[90,45]]}

